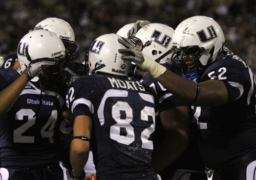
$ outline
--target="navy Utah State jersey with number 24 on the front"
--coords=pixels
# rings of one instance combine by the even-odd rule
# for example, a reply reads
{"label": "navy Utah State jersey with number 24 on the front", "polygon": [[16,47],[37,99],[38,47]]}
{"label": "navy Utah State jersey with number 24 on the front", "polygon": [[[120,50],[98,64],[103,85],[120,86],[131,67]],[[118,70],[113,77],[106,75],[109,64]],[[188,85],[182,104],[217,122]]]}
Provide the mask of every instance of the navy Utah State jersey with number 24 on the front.
{"label": "navy Utah State jersey with number 24 on the front", "polygon": [[[0,69],[0,90],[20,74]],[[12,108],[0,117],[2,167],[42,167],[58,162],[55,130],[62,120],[65,101],[58,92],[40,90],[28,83]]]}

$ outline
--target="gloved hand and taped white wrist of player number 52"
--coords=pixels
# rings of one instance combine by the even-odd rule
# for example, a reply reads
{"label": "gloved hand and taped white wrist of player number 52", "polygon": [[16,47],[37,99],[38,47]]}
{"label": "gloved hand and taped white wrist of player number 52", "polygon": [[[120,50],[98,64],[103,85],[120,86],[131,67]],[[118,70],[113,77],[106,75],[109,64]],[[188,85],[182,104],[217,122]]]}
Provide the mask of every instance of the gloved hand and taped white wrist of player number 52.
{"label": "gloved hand and taped white wrist of player number 52", "polygon": [[127,49],[118,49],[118,52],[123,54],[122,60],[135,62],[139,69],[150,72],[154,78],[158,78],[158,76],[166,71],[164,66],[152,60],[150,57],[147,57],[134,47],[129,39],[122,37],[122,39],[118,39],[118,42],[127,47]]}

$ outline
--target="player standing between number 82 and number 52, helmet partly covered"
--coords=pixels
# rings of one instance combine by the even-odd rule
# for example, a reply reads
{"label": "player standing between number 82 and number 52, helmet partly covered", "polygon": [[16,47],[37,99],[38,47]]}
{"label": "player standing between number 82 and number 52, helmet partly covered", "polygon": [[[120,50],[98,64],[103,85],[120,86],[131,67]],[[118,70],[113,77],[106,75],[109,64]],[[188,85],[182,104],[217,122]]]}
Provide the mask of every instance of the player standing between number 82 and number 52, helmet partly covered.
{"label": "player standing between number 82 and number 52, helmet partly covered", "polygon": [[[143,54],[162,64],[172,56],[170,41],[173,33],[174,30],[167,25],[151,23],[141,28],[130,40]],[[177,73],[173,65],[165,63],[163,66]],[[143,83],[152,87],[160,99],[159,115],[166,133],[165,139],[156,138],[158,141],[164,140],[153,156],[154,169],[162,179],[207,179],[195,138],[196,122],[190,122],[189,105],[169,93],[150,73],[138,68],[136,72],[143,76]],[[161,134],[161,131],[156,134]]]}

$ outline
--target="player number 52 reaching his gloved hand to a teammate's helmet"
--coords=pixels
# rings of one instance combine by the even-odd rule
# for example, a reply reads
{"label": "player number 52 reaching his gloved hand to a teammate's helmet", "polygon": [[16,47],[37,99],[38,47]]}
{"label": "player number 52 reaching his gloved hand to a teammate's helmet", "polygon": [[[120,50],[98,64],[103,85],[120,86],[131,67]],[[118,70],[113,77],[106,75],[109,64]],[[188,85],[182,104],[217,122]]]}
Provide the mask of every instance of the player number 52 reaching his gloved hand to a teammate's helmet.
{"label": "player number 52 reaching his gloved hand to a teammate's helmet", "polygon": [[[118,41],[127,46],[126,39]],[[256,85],[250,67],[237,56],[227,56],[224,44],[220,25],[210,17],[194,16],[178,25],[172,40],[176,52],[172,63],[180,74],[196,70],[197,83],[166,70],[134,47],[119,52],[123,60],[133,60],[169,92],[192,105],[200,129],[200,155],[215,171],[212,179],[253,179]]]}

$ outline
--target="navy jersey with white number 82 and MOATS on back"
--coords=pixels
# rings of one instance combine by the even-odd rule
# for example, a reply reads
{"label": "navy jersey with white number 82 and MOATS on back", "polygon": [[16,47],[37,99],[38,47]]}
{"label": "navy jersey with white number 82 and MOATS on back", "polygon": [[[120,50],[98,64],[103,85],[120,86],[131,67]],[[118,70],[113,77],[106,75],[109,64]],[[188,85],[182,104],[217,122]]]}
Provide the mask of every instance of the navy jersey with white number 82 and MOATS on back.
{"label": "navy jersey with white number 82 and MOATS on back", "polygon": [[[153,175],[150,166],[158,98],[140,82],[86,75],[67,92],[74,116],[92,117],[90,144],[97,179],[139,179]],[[86,106],[84,111],[77,111]]]}

